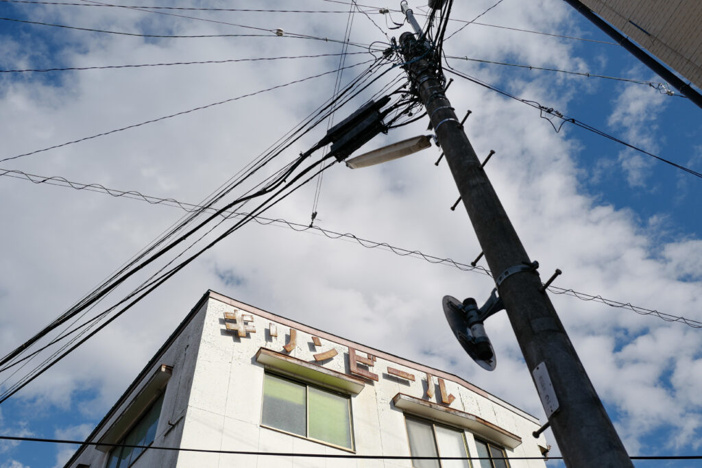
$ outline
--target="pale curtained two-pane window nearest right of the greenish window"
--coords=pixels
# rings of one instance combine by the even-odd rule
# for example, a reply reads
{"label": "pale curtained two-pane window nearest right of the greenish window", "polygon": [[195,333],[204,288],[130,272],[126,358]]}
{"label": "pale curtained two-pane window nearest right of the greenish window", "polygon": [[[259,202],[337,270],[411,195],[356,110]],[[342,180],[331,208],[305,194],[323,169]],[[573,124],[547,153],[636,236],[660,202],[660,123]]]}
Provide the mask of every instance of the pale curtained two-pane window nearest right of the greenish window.
{"label": "pale curtained two-pane window nearest right of the greenish window", "polygon": [[[468,457],[463,431],[406,417],[413,457]],[[415,468],[472,468],[470,460],[412,460]],[[481,467],[482,468],[482,467]]]}

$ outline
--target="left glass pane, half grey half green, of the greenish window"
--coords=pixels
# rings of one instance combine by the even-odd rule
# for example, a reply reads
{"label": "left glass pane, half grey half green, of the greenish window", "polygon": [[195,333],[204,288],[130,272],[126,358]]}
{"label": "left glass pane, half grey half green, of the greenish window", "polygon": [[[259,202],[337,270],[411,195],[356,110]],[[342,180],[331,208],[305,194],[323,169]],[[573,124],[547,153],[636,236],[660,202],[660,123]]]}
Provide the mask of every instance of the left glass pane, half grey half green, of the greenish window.
{"label": "left glass pane, half grey half green, of the greenish window", "polygon": [[300,436],[306,435],[305,385],[265,375],[261,423]]}

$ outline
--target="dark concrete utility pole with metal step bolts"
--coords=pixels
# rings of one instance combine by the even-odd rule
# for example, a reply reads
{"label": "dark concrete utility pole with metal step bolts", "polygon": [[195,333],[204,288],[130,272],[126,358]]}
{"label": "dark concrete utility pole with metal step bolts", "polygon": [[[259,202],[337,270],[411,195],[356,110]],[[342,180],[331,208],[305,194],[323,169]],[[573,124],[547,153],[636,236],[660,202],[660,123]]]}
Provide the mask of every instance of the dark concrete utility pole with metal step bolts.
{"label": "dark concrete utility pole with metal step bolts", "polygon": [[436,65],[425,58],[430,45],[410,32],[399,41],[404,68],[430,116],[485,260],[494,275],[500,275],[498,292],[542,401],[543,377],[534,377],[535,368],[539,366],[537,375],[543,376],[545,367],[547,382],[550,377],[558,406],[552,414],[547,409],[548,422],[564,462],[568,467],[633,467],[553,305],[541,291],[538,273],[523,269],[531,263],[529,256],[446,99]]}

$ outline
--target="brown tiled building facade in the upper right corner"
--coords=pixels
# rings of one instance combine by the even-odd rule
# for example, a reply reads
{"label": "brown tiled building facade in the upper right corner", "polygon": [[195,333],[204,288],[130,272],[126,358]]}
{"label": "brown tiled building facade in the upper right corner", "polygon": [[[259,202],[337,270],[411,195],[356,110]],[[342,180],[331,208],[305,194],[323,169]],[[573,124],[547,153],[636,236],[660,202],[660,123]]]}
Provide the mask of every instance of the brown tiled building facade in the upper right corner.
{"label": "brown tiled building facade in the upper right corner", "polygon": [[621,34],[702,88],[702,1],[580,1]]}

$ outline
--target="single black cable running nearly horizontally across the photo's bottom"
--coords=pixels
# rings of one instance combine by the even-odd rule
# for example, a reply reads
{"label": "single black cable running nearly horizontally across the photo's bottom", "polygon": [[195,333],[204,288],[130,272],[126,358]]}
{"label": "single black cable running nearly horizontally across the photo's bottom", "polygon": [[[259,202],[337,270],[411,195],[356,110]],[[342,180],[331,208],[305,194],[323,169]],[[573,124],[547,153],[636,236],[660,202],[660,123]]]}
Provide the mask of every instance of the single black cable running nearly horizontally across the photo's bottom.
{"label": "single black cable running nearly horizontally across the photo's bottom", "polygon": [[[420,457],[413,455],[357,455],[351,453],[293,453],[293,452],[258,452],[249,450],[217,450],[208,448],[183,448],[165,446],[141,446],[128,443],[106,443],[91,441],[72,441],[66,439],[44,439],[41,437],[0,436],[0,440],[28,441],[48,443],[69,443],[79,446],[107,446],[126,448],[151,448],[177,452],[223,453],[227,455],[262,455],[271,457],[305,457],[305,458],[348,458],[351,460],[563,460],[563,457]],[[631,460],[702,460],[702,455],[638,455]]]}

